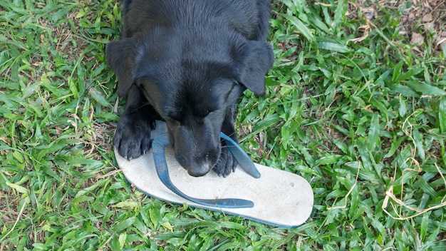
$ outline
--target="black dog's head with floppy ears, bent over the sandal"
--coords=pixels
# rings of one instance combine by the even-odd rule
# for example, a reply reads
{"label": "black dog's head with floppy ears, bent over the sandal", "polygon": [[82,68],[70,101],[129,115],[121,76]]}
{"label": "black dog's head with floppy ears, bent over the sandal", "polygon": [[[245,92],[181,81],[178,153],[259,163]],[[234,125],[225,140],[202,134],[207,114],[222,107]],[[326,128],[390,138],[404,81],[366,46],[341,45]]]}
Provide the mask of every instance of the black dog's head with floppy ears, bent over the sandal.
{"label": "black dog's head with floppy ears, bent over the sandal", "polygon": [[[264,95],[274,55],[268,43],[235,39],[211,50],[165,34],[137,34],[107,46],[107,61],[126,96],[137,85],[167,123],[178,162],[205,175],[221,154],[219,133],[234,133],[237,100],[248,88]],[[132,98],[132,97],[127,97]],[[235,138],[235,136],[234,136]]]}

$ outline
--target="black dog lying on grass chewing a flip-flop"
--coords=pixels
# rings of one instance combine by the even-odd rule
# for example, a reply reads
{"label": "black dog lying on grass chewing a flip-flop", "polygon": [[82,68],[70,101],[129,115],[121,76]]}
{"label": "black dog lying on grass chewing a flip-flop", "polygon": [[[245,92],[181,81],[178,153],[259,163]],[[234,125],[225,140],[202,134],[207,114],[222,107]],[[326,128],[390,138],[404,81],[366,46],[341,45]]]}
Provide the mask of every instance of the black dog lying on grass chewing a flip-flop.
{"label": "black dog lying on grass chewing a flip-flop", "polygon": [[219,133],[237,142],[239,97],[246,88],[264,95],[269,17],[268,0],[125,0],[122,37],[106,55],[127,99],[113,139],[120,155],[149,150],[161,119],[190,175],[231,173],[237,160]]}

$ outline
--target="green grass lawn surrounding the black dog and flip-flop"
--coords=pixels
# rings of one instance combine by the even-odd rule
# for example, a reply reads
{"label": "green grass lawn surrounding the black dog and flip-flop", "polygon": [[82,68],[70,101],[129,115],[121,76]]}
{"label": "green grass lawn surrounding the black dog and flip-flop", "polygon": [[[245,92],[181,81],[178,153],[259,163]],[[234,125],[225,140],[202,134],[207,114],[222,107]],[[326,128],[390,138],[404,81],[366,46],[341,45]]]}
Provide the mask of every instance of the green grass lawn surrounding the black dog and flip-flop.
{"label": "green grass lawn surrounding the black dog and flip-flop", "polygon": [[247,92],[237,125],[256,162],[313,187],[310,219],[285,230],[127,183],[104,61],[115,1],[1,1],[0,250],[445,250],[446,46],[427,32],[415,51],[410,5],[368,4],[370,25],[355,1],[274,1],[267,94]]}

